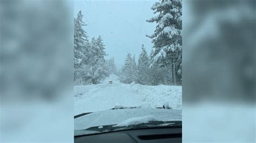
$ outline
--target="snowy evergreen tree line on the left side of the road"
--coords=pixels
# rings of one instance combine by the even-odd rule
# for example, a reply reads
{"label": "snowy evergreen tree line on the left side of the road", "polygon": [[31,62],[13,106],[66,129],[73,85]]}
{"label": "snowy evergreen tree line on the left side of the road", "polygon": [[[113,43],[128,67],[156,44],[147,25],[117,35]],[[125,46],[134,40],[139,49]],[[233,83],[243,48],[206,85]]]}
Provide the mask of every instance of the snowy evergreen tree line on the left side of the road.
{"label": "snowy evergreen tree line on the left side of the road", "polygon": [[79,11],[74,19],[74,82],[75,85],[97,84],[109,74],[116,73],[116,66],[114,58],[105,59],[105,45],[100,35],[88,40],[82,19]]}

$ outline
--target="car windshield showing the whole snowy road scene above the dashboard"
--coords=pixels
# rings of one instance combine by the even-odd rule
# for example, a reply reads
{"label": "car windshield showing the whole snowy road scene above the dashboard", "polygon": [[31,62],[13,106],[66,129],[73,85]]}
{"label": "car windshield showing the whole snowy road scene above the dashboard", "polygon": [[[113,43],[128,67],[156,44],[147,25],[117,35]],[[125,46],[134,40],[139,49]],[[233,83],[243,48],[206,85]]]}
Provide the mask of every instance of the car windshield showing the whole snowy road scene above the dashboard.
{"label": "car windshield showing the whole snowy road scene above the dashboard", "polygon": [[75,135],[181,127],[181,7],[74,2]]}

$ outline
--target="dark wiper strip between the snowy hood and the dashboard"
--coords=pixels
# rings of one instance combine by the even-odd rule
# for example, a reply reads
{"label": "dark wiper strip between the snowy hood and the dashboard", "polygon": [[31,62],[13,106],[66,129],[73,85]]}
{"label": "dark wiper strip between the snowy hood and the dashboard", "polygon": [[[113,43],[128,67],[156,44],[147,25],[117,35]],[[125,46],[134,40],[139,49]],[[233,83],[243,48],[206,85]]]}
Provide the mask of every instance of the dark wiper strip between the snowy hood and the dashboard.
{"label": "dark wiper strip between the snowy hood and the dashboard", "polygon": [[132,124],[129,126],[104,125],[86,128],[85,131],[111,132],[120,130],[132,130],[138,128],[181,128],[182,121],[147,121],[147,123]]}

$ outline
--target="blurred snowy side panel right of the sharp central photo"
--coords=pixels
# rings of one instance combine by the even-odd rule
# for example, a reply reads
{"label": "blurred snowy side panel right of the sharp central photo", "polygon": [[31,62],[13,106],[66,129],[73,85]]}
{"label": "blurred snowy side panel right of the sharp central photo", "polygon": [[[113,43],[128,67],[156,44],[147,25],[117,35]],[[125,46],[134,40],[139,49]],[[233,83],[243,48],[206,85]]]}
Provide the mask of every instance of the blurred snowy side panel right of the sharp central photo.
{"label": "blurred snowy side panel right of the sharp central photo", "polygon": [[183,1],[183,142],[255,142],[255,1]]}

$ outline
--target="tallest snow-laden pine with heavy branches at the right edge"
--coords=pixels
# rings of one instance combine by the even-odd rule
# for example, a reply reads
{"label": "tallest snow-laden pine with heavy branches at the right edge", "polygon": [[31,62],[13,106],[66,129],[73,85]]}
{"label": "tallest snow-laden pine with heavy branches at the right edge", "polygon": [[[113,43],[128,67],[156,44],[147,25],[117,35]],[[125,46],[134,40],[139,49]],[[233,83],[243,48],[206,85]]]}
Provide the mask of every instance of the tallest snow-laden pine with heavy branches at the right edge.
{"label": "tallest snow-laden pine with heavy branches at the right edge", "polygon": [[181,0],[160,0],[156,2],[152,8],[158,16],[153,17],[147,22],[156,22],[158,25],[154,34],[147,35],[152,39],[153,59],[150,67],[159,66],[161,68],[169,68],[171,70],[172,84],[181,84],[177,75],[178,70],[181,72],[180,60],[182,49],[182,5]]}

